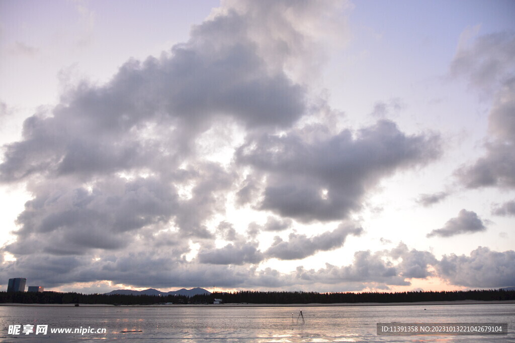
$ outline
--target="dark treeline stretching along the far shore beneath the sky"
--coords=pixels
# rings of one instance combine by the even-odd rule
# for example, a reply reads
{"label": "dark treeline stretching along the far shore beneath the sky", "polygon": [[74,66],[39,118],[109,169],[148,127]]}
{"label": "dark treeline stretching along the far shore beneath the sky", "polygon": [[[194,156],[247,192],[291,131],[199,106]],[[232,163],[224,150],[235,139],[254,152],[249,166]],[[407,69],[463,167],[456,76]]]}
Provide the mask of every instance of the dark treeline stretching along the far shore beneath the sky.
{"label": "dark treeline stretching along the far shore beneath the sky", "polygon": [[157,303],[213,303],[214,299],[224,303],[254,304],[306,304],[306,303],[355,303],[355,302],[417,302],[417,301],[454,301],[454,300],[515,300],[515,291],[482,290],[451,292],[399,292],[399,293],[317,293],[317,292],[259,292],[241,291],[212,293],[192,297],[180,295],[105,295],[60,292],[0,292],[0,302],[40,303],[40,304],[113,304],[144,305]]}

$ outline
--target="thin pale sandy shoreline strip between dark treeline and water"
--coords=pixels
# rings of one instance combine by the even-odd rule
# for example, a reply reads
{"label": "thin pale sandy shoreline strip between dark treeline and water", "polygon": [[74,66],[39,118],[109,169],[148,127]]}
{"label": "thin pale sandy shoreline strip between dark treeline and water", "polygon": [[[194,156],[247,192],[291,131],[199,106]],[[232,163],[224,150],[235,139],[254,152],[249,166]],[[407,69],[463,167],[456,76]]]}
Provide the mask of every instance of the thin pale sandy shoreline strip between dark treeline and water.
{"label": "thin pale sandy shoreline strip between dark treeline and water", "polygon": [[345,303],[308,303],[308,304],[254,304],[254,303],[227,303],[227,304],[172,304],[172,305],[111,305],[111,304],[25,304],[0,303],[0,306],[11,307],[79,307],[79,308],[281,308],[281,307],[349,307],[349,306],[414,306],[414,305],[489,305],[489,304],[515,304],[515,300],[454,300],[454,301],[419,301],[419,302],[345,302]]}

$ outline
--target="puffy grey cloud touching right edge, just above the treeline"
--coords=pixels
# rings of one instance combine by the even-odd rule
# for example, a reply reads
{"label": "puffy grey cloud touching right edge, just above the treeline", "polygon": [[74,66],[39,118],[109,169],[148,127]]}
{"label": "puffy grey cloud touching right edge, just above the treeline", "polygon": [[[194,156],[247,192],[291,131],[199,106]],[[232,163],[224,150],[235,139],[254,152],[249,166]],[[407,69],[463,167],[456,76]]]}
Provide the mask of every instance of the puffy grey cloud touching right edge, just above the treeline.
{"label": "puffy grey cloud touching right edge, just above the treeline", "polygon": [[444,255],[436,265],[438,275],[455,285],[506,287],[515,284],[515,251],[478,247],[470,256]]}

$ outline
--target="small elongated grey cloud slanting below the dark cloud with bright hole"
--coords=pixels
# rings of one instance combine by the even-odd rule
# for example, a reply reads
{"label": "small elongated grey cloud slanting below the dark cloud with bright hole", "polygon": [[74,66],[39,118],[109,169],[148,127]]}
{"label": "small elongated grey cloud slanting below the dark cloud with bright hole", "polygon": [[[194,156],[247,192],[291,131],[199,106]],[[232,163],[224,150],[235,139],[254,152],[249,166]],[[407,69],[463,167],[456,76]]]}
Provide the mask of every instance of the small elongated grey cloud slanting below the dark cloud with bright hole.
{"label": "small elongated grey cloud slanting below the dark cloud with bright hole", "polygon": [[276,237],[272,246],[265,251],[267,257],[280,260],[298,260],[314,255],[318,251],[328,251],[344,245],[349,234],[359,236],[361,227],[340,224],[337,229],[317,236],[307,237],[305,234],[290,233],[288,241]]}

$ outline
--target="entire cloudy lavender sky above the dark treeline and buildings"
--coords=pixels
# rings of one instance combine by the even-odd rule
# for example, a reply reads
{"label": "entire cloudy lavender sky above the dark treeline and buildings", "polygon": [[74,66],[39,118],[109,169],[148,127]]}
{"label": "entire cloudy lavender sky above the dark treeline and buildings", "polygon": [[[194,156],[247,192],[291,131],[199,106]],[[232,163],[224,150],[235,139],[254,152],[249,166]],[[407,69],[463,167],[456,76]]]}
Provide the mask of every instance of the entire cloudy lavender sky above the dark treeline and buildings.
{"label": "entire cloudy lavender sky above the dark treeline and buildings", "polygon": [[0,2],[0,290],[514,286],[514,16]]}

